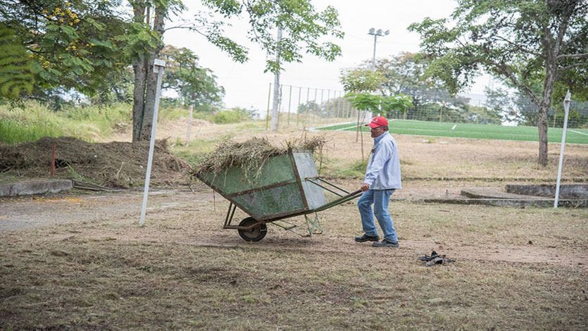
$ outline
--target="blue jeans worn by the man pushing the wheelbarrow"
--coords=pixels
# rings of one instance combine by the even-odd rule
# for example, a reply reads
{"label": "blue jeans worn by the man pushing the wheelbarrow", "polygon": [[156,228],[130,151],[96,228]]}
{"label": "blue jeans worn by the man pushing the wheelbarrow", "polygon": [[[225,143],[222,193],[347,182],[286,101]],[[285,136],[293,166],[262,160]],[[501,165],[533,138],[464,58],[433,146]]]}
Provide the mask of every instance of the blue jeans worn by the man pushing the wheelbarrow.
{"label": "blue jeans worn by the man pushing the wheelbarrow", "polygon": [[[357,206],[361,215],[361,225],[363,226],[365,235],[377,236],[377,229],[374,223],[375,215],[377,223],[380,223],[380,227],[384,232],[384,238],[389,242],[398,242],[396,230],[394,230],[394,223],[392,223],[392,217],[390,217],[390,213],[388,212],[388,203],[392,193],[394,193],[394,189],[368,189],[368,191],[361,194]],[[372,205],[374,205],[373,212]]]}

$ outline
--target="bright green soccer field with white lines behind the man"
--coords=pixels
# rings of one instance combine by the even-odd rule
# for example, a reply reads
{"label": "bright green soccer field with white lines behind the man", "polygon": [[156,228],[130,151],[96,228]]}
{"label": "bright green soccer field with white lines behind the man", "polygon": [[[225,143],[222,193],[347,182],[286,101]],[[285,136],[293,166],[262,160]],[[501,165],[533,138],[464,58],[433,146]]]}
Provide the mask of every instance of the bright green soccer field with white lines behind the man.
{"label": "bright green soccer field with white lines behind the man", "polygon": [[[521,140],[527,142],[538,142],[539,133],[537,127],[529,126],[504,126],[491,124],[470,124],[470,123],[445,123],[426,122],[423,120],[390,120],[389,130],[391,133],[400,135],[418,135],[434,137],[459,137],[474,139],[501,139]],[[320,127],[319,130],[356,130],[356,125],[346,123]],[[362,130],[369,131],[368,127]],[[561,142],[563,129],[550,127],[547,130],[549,142]],[[568,129],[565,142],[568,144],[588,144],[587,129]]]}

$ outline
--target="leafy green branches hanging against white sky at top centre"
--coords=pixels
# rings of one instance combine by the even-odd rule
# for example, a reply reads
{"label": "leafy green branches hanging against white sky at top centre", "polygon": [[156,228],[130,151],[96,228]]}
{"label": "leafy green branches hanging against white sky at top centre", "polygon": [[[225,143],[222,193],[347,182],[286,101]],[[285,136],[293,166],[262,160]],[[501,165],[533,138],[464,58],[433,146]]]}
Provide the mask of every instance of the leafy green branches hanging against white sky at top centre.
{"label": "leafy green branches hanging against white sky at top centre", "polygon": [[[319,42],[323,37],[342,38],[339,30],[338,13],[332,6],[324,11],[315,11],[310,0],[203,0],[205,6],[223,16],[222,20],[211,21],[204,16],[197,18],[203,28],[201,33],[208,41],[226,51],[235,61],[244,62],[247,51],[243,46],[224,35],[223,26],[230,18],[246,15],[251,26],[249,39],[259,44],[269,54],[280,54],[280,61],[301,62],[302,52],[313,54],[327,61],[333,61],[341,54],[341,48],[330,41]],[[283,37],[277,42],[275,30],[280,27]],[[265,71],[277,73],[281,70],[279,61],[269,58]]]}

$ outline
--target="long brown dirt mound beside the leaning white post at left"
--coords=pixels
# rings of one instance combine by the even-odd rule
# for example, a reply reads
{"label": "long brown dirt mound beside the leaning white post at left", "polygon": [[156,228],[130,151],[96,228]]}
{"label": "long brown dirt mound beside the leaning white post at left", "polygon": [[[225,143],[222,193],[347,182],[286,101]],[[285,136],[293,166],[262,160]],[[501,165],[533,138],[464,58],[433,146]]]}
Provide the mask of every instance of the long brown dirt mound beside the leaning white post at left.
{"label": "long brown dirt mound beside the leaning white post at left", "polygon": [[[44,137],[37,142],[0,146],[0,173],[27,178],[49,176],[54,145],[55,177],[123,188],[144,182],[149,142],[89,143],[72,137]],[[151,184],[181,185],[189,181],[190,171],[187,163],[169,153],[167,140],[156,141]]]}

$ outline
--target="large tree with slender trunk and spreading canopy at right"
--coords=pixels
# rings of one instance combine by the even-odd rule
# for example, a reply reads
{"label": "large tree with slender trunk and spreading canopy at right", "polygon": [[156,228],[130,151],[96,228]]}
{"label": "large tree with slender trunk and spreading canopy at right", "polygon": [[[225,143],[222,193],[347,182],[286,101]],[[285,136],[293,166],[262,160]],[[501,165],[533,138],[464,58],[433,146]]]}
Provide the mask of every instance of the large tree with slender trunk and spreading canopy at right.
{"label": "large tree with slender trunk and spreading canopy at right", "polygon": [[547,112],[556,82],[568,77],[573,83],[587,70],[588,2],[457,2],[450,18],[425,18],[409,27],[420,33],[422,51],[431,60],[428,75],[456,93],[485,70],[524,93],[538,108],[538,162],[546,165]]}

